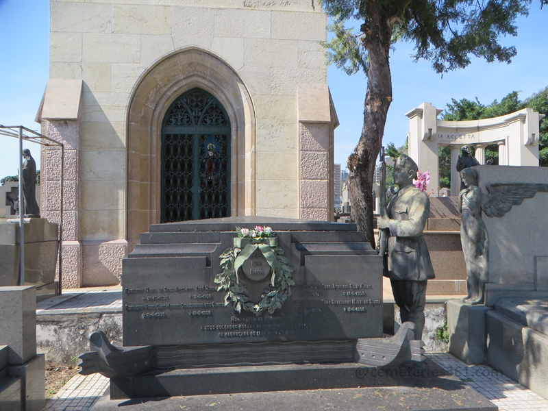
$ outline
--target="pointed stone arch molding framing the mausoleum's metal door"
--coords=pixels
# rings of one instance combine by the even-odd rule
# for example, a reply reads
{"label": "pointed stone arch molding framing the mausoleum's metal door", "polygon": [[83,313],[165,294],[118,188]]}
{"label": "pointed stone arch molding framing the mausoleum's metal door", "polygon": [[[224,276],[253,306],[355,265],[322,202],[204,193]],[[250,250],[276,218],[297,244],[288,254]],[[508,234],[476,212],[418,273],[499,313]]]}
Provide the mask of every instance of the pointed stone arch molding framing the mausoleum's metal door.
{"label": "pointed stone arch molding framing the mausoleum's metal door", "polygon": [[169,106],[192,88],[210,92],[231,125],[231,215],[255,214],[255,110],[228,64],[201,49],[178,51],[142,75],[127,114],[127,238],[160,223],[160,142]]}

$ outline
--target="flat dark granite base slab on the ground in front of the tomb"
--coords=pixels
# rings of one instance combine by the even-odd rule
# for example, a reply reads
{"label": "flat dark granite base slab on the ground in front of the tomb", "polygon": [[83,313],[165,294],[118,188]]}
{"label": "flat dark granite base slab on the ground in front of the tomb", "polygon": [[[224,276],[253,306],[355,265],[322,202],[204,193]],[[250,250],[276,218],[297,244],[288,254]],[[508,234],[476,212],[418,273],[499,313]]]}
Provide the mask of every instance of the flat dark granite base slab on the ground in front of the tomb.
{"label": "flat dark granite base slab on the ground in front of the tomb", "polygon": [[[121,401],[131,390],[173,397]],[[118,399],[105,395],[92,410],[497,410],[430,360],[386,369],[332,364],[179,370],[112,380],[110,396]]]}

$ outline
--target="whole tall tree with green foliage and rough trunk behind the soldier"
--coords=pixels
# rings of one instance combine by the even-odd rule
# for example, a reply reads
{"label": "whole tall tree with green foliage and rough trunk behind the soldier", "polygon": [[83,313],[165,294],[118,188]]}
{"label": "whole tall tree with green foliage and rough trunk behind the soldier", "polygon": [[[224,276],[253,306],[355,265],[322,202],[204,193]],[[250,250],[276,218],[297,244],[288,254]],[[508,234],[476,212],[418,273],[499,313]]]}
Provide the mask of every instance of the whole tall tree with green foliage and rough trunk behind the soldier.
{"label": "whole tall tree with green foliage and rough trunk behind the soldier", "polygon": [[[348,74],[362,70],[368,79],[364,125],[348,159],[352,217],[374,245],[373,173],[392,101],[390,47],[399,40],[414,45],[414,60],[432,62],[436,73],[461,69],[471,57],[510,62],[513,46],[499,39],[516,36],[516,18],[531,0],[315,0],[332,17],[334,38],[325,43],[328,61]],[[540,5],[548,0],[540,0]],[[314,0],[312,0],[314,4]],[[358,21],[357,30],[347,27]]]}

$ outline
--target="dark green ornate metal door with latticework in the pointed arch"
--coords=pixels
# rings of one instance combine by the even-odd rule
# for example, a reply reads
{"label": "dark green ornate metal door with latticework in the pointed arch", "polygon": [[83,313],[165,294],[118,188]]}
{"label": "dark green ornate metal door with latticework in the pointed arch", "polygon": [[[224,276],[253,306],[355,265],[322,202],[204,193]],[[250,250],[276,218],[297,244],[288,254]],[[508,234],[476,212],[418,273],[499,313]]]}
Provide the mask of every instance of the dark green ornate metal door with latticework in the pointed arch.
{"label": "dark green ornate metal door with latticework in the pointed arch", "polygon": [[194,88],[162,124],[160,221],[230,216],[230,123],[208,92]]}

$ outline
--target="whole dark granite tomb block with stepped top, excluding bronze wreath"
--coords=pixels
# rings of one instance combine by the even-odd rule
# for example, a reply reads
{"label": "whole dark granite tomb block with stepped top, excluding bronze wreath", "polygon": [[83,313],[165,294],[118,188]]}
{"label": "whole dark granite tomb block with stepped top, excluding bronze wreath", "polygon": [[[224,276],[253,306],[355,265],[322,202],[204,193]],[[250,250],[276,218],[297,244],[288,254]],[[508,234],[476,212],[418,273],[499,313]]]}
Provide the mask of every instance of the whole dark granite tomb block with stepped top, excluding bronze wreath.
{"label": "whole dark granite tomb block with stepped top, excluding bronze wreath", "polygon": [[[258,224],[271,225],[295,267],[292,295],[273,315],[226,307],[214,283],[236,226]],[[151,226],[141,239],[123,261],[125,346],[382,336],[382,259],[355,225],[253,216]],[[247,282],[251,301],[269,281]]]}

